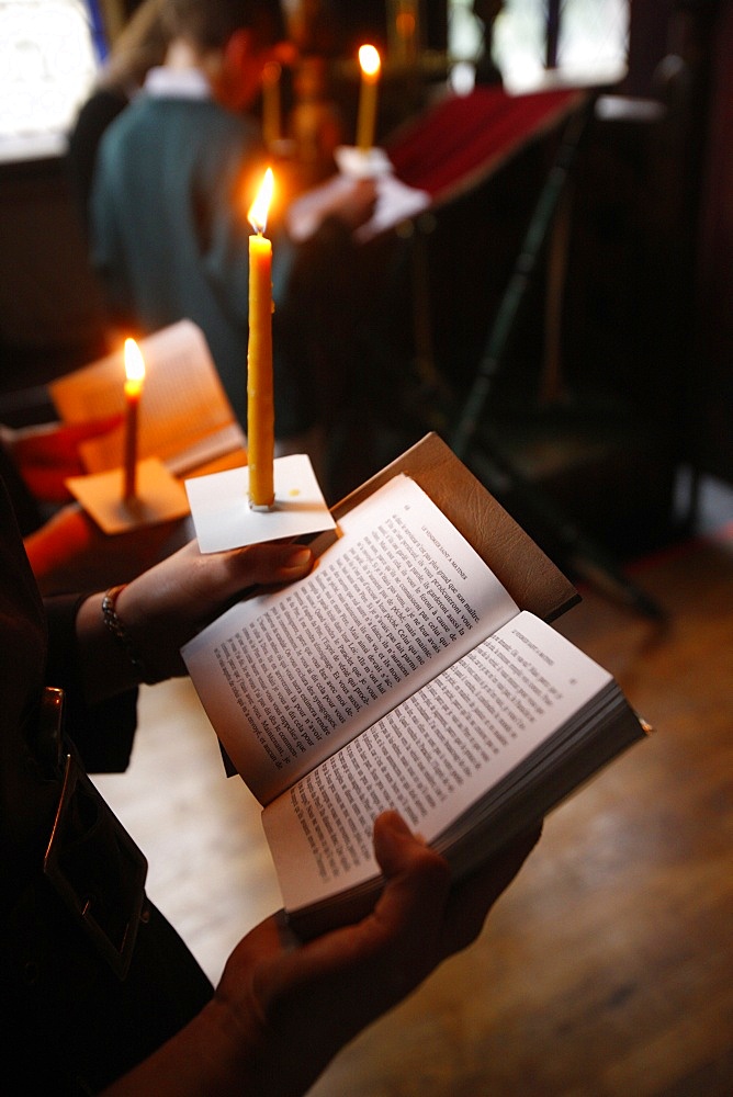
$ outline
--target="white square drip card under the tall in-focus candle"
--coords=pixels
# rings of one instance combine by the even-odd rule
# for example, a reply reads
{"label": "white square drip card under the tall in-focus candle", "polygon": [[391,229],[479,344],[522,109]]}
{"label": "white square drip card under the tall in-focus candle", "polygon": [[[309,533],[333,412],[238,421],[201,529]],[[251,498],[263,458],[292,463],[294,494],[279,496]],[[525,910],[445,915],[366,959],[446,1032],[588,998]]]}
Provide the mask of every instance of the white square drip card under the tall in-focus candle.
{"label": "white square drip card under the tall in-focus candle", "polygon": [[269,508],[250,506],[246,465],[185,480],[201,552],[224,552],[335,528],[306,454],[278,457],[273,473],[275,498]]}

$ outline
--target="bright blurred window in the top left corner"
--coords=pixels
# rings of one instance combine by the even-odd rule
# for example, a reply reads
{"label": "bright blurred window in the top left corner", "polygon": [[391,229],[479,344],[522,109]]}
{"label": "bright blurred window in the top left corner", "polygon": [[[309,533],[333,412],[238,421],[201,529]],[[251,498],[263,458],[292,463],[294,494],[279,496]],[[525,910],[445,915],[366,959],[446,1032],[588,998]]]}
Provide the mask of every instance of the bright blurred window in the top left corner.
{"label": "bright blurred window in the top left corner", "polygon": [[98,69],[97,26],[83,0],[0,0],[0,155],[59,144]]}

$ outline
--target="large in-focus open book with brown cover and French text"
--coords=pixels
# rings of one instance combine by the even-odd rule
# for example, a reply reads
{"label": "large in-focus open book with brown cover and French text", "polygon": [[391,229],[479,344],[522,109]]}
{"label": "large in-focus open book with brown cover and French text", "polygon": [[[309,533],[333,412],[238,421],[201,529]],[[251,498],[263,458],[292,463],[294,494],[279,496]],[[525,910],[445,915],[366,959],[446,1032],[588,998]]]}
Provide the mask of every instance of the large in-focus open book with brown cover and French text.
{"label": "large in-focus open book with brown cover and French text", "polygon": [[373,904],[383,810],[458,878],[644,734],[548,623],[572,585],[436,436],[335,517],[309,576],[182,653],[306,936]]}

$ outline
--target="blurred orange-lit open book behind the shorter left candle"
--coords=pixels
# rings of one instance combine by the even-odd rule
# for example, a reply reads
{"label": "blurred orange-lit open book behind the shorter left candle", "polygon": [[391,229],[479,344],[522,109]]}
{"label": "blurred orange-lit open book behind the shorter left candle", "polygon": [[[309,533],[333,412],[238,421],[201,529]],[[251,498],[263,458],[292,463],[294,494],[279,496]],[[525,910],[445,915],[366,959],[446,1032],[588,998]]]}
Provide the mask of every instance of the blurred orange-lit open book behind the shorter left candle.
{"label": "blurred orange-lit open book behind the shorter left candle", "polygon": [[[138,456],[159,457],[173,475],[201,471],[240,453],[245,437],[203,332],[181,320],[139,341],[145,361]],[[122,349],[53,382],[50,396],[65,422],[113,416],[124,410]],[[243,380],[243,385],[246,381]],[[124,426],[84,442],[88,473],[117,468],[123,461]]]}

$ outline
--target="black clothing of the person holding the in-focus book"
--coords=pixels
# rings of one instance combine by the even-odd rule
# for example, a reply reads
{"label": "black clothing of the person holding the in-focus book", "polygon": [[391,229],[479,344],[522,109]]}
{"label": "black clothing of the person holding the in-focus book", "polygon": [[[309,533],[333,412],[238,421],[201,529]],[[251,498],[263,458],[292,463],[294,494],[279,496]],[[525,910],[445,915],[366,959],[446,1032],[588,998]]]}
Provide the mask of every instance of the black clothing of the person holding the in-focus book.
{"label": "black clothing of the person holding the in-focus book", "polygon": [[[135,691],[84,703],[76,667],[78,604],[64,597],[44,607],[0,480],[0,1055],[16,1093],[44,1097],[99,1092],[182,1028],[213,993],[147,902],[142,872],[131,873],[124,832],[101,798],[95,802],[81,787],[70,798],[69,840],[57,861],[61,880],[87,896],[92,912],[106,902],[113,934],[120,908],[137,896],[137,935],[124,976],[44,874],[63,772],[37,745],[43,687],[64,690],[63,754],[78,754],[90,770],[124,769],[135,732]],[[144,859],[136,864],[144,872]]]}

